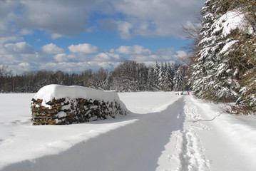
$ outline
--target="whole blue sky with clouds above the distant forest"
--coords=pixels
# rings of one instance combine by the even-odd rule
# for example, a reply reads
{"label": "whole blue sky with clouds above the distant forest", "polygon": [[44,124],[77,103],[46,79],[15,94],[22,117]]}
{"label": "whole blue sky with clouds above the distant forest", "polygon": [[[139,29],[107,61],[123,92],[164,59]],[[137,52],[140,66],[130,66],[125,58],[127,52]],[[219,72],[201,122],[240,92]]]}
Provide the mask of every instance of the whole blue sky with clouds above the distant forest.
{"label": "whole blue sky with clouds above the distant forest", "polygon": [[0,66],[14,74],[177,61],[204,0],[0,0]]}

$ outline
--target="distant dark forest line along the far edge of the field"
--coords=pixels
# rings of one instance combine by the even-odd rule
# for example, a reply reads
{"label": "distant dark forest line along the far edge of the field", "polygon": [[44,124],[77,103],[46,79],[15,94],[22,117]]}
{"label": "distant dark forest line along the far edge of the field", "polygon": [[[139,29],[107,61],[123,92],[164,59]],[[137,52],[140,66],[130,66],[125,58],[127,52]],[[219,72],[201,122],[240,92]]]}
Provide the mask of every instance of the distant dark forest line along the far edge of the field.
{"label": "distant dark forest line along the far edge of the field", "polygon": [[14,76],[8,66],[0,68],[1,93],[36,93],[48,84],[64,86],[86,86],[99,90],[131,91],[172,91],[188,89],[187,66],[176,63],[145,63],[123,61],[114,71],[99,68],[82,73],[64,73],[63,71],[26,71]]}

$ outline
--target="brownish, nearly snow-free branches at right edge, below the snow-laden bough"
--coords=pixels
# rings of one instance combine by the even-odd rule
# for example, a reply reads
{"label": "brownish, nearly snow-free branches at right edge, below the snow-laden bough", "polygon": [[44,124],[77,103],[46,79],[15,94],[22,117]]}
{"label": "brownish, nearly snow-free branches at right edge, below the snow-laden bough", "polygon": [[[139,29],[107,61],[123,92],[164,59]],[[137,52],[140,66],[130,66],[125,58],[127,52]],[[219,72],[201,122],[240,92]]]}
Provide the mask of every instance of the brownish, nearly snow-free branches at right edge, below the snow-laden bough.
{"label": "brownish, nearly snow-free branches at right edge, below the snow-laden bough", "polygon": [[[239,68],[236,74],[240,84],[236,105],[232,106],[232,113],[256,114],[256,38],[255,33],[245,34],[238,29],[232,31],[235,43],[230,46],[232,51],[226,51],[227,58]],[[237,41],[238,40],[238,41]]]}

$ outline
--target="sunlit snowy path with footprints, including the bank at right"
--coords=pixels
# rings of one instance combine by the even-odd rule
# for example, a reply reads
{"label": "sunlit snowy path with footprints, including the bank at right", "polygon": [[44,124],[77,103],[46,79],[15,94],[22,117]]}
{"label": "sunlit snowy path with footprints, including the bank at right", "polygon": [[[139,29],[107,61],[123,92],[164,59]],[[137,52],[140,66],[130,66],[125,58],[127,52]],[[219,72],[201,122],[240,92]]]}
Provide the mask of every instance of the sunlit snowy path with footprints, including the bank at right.
{"label": "sunlit snowy path with footprints, including the bank at right", "polygon": [[[247,122],[235,123],[239,117],[222,110],[217,105],[185,96],[185,119],[183,126],[172,133],[173,152],[168,155],[171,167],[165,170],[255,170],[252,157],[256,152],[256,144],[252,144],[256,142],[255,124],[250,128]],[[236,131],[252,137],[238,140],[236,136],[241,135],[235,135]],[[249,147],[242,145],[250,142]]]}

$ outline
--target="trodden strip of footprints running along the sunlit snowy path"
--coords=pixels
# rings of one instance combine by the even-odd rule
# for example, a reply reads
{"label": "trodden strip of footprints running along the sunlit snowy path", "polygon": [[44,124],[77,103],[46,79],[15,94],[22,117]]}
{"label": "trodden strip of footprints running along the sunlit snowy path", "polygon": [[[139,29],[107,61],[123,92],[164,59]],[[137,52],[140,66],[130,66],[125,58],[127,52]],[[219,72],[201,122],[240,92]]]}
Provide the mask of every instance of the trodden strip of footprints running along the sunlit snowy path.
{"label": "trodden strip of footprints running along the sunlit snowy path", "polygon": [[196,106],[186,100],[183,104],[183,113],[180,113],[177,119],[180,117],[185,119],[185,122],[180,130],[173,133],[176,142],[173,155],[168,155],[169,161],[175,163],[172,170],[210,170],[210,162],[205,157],[205,149],[197,134],[198,130],[208,130],[209,128],[196,122],[202,118]]}

